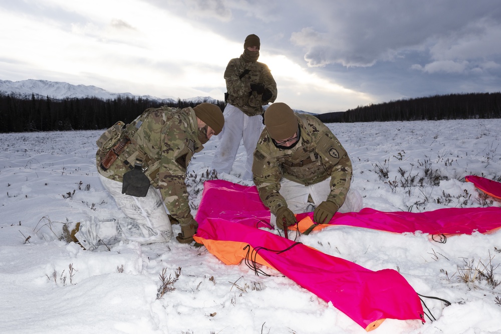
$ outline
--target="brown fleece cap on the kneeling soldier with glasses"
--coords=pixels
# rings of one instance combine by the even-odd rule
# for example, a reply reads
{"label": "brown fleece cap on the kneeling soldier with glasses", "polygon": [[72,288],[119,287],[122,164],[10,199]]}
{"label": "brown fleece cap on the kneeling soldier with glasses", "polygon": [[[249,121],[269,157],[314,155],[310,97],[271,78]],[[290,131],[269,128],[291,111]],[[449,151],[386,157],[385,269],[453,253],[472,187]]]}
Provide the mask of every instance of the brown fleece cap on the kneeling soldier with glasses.
{"label": "brown fleece cap on the kneeling soldier with glasses", "polygon": [[270,137],[277,141],[291,138],[299,127],[294,111],[282,102],[272,104],[265,111],[265,125]]}

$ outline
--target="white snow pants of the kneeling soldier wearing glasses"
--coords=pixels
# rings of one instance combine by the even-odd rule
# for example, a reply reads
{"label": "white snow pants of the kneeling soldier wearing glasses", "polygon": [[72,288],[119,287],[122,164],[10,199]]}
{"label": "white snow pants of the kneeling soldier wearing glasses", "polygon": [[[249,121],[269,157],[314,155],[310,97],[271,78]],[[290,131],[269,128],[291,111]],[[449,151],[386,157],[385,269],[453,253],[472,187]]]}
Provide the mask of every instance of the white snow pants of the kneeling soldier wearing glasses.
{"label": "white snow pants of the kneeling soldier wearing glasses", "polygon": [[[286,178],[280,181],[280,194],[285,198],[287,207],[294,213],[303,213],[313,211],[320,203],[327,199],[331,192],[331,178],[315,183],[309,186],[297,183]],[[308,195],[311,195],[314,203],[308,202]],[[313,204],[314,207],[310,206]],[[358,212],[362,209],[362,196],[358,190],[350,188],[346,199],[339,208],[338,212]],[[271,222],[275,222],[274,214],[271,216]]]}

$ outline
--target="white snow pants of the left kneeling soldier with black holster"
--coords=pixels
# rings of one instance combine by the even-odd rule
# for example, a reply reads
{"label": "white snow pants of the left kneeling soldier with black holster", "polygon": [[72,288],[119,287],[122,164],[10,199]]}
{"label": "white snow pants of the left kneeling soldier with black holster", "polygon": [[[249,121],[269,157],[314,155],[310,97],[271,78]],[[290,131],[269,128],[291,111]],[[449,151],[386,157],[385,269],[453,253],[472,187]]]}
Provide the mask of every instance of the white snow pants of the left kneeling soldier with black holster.
{"label": "white snow pants of the left kneeling soldier with black holster", "polygon": [[108,221],[96,221],[92,217],[90,221],[80,222],[80,229],[75,236],[85,249],[95,249],[100,241],[108,245],[121,240],[141,244],[170,240],[172,226],[157,189],[150,186],[145,197],[135,197],[122,194],[122,182],[102,175],[99,175],[99,179],[126,217]]}

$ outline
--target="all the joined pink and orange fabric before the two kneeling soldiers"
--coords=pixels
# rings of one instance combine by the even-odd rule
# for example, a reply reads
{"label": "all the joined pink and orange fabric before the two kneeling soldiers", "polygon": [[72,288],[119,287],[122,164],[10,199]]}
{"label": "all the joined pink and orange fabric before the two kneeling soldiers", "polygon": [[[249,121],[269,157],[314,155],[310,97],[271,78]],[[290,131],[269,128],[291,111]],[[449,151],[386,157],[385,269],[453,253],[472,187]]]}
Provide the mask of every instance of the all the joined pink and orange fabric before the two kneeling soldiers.
{"label": "all the joined pink and orange fabric before the two kneeling soldiers", "polygon": [[[298,214],[300,230],[313,225],[312,212]],[[320,298],[331,301],[366,330],[385,318],[424,321],[419,297],[395,270],[371,271],[257,227],[273,228],[257,188],[223,180],[204,183],[195,219],[195,240],[226,264],[242,259],[282,272]],[[446,208],[429,212],[336,213],[327,225],[357,226],[395,233],[470,234],[501,227],[501,208]],[[303,227],[301,227],[303,226]],[[285,251],[284,251],[285,250]]]}

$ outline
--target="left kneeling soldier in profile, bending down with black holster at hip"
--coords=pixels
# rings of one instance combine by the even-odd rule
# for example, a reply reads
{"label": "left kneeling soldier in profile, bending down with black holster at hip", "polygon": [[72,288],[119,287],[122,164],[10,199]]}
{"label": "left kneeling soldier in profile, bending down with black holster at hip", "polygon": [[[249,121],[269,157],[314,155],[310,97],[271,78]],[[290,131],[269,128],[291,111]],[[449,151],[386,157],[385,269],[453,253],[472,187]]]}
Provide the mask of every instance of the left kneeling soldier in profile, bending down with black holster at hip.
{"label": "left kneeling soldier in profile, bending down with black holster at hip", "polygon": [[[149,108],[126,127],[108,129],[98,140],[97,169],[104,188],[126,217],[80,222],[73,231],[66,228],[65,237],[73,236],[71,239],[86,249],[96,248],[100,240],[105,244],[120,240],[167,242],[172,236],[170,214],[181,225],[176,239],[193,241],[198,224],[188,205],[186,169],[193,154],[223,125],[219,107],[202,103],[184,109]],[[108,139],[113,135],[115,138]],[[139,176],[146,180],[145,194],[128,194],[129,187],[134,190],[136,184],[125,179],[131,170],[140,171]]]}

